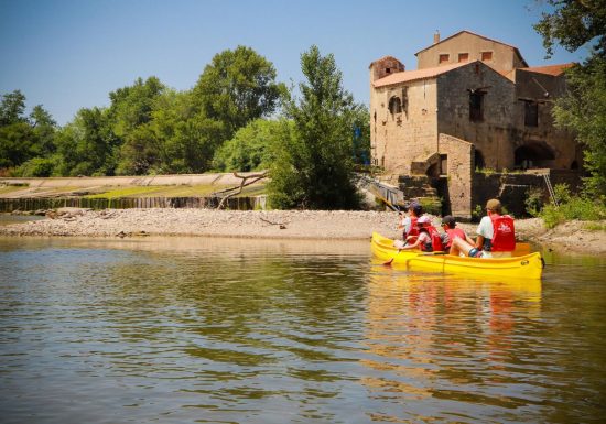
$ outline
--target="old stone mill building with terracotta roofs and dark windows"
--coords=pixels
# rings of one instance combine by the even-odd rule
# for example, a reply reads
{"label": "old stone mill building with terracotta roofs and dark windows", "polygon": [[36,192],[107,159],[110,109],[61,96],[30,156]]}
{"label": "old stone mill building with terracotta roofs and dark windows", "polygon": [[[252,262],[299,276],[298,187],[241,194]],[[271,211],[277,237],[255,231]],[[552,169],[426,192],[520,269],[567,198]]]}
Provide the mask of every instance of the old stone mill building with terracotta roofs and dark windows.
{"label": "old stone mill building with terracotta roofs and dark windows", "polygon": [[444,211],[459,217],[507,192],[478,194],[477,170],[573,170],[561,174],[574,180],[581,149],[551,117],[572,64],[529,67],[517,47],[468,31],[443,41],[435,34],[416,59],[414,70],[391,56],[370,64],[374,164],[433,178]]}

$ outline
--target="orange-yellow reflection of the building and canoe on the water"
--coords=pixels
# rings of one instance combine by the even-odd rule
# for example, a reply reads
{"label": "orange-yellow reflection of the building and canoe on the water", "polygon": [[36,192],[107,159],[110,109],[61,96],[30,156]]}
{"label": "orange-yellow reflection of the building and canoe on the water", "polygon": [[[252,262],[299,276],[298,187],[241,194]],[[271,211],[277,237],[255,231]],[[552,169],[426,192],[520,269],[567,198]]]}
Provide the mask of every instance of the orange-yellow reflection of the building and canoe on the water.
{"label": "orange-yellow reflection of the building and canoe on the water", "polygon": [[[518,376],[504,368],[529,354],[518,339],[526,319],[539,312],[540,283],[378,269],[369,284],[366,340],[372,356],[364,361],[362,383],[388,405],[381,420],[415,420],[436,400],[447,400],[455,414],[467,414],[474,403],[518,406],[519,400],[494,388],[515,391]],[[391,407],[394,402],[401,409]]]}

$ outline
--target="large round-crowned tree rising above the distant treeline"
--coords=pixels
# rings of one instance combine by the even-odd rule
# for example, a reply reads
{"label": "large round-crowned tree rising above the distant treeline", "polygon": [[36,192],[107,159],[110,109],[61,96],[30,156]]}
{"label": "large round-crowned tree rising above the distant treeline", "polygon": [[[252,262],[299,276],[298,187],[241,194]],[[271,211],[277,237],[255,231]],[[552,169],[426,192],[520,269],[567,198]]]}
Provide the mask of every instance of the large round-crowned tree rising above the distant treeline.
{"label": "large round-crowned tree rising above the distant treeline", "polygon": [[194,104],[209,119],[223,122],[223,140],[249,121],[271,115],[284,91],[271,62],[238,46],[213,57],[193,89]]}

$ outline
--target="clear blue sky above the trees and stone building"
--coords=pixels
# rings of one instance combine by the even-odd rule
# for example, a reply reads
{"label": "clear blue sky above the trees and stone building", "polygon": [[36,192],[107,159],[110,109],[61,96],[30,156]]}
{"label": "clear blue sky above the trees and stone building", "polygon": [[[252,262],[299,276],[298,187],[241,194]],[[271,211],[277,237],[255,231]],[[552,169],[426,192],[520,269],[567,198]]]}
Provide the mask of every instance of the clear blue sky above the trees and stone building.
{"label": "clear blue sky above the trees and stone building", "polygon": [[517,46],[530,66],[581,62],[556,47],[545,61],[532,24],[534,0],[0,0],[0,94],[20,89],[59,124],[79,108],[156,76],[184,90],[213,56],[238,45],[273,63],[278,79],[302,79],[312,44],[334,54],[344,87],[368,105],[368,65],[385,55],[416,68],[414,53],[440,31],[468,30]]}

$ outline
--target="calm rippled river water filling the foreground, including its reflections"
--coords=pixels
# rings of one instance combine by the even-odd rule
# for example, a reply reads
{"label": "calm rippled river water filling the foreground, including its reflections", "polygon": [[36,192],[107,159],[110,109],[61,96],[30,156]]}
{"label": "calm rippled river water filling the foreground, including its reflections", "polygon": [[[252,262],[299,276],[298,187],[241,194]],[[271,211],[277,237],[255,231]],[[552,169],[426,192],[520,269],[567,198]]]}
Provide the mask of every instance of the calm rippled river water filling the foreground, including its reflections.
{"label": "calm rippled river water filling the foreground, including its reflections", "polygon": [[606,259],[408,273],[368,242],[0,239],[2,423],[583,423]]}

